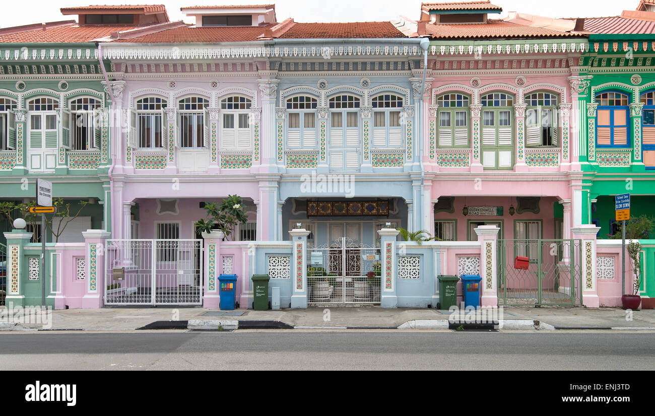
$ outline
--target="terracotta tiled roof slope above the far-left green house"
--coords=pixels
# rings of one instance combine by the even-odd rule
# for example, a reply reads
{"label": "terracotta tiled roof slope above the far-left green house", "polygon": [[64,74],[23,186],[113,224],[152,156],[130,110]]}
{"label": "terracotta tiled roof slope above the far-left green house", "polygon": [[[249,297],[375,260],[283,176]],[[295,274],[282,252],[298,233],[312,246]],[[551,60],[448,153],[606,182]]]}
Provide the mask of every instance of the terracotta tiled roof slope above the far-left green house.
{"label": "terracotta tiled roof slope above the far-left green house", "polygon": [[109,36],[113,31],[140,28],[140,26],[78,26],[69,24],[56,28],[39,28],[20,33],[0,35],[0,43],[65,43],[90,42],[100,37]]}

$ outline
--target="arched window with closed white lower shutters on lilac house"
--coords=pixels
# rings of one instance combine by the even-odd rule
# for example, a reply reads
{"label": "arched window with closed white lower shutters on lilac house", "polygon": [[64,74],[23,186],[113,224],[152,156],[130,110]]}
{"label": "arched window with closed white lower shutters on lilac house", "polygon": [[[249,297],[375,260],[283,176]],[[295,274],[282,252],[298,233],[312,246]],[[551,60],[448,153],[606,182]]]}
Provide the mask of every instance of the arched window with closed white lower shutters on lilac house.
{"label": "arched window with closed white lower shutters on lilac house", "polygon": [[252,143],[250,132],[250,109],[252,100],[241,96],[231,96],[221,100],[223,114],[221,126],[221,149],[247,150]]}

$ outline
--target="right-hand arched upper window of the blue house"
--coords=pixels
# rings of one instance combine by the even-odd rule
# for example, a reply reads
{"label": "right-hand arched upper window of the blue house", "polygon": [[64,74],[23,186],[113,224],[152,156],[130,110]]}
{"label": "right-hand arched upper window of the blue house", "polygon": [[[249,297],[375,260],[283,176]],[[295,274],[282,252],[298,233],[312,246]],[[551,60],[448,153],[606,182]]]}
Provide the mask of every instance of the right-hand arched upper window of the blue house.
{"label": "right-hand arched upper window of the blue house", "polygon": [[400,110],[403,99],[392,94],[373,97],[373,147],[402,147]]}

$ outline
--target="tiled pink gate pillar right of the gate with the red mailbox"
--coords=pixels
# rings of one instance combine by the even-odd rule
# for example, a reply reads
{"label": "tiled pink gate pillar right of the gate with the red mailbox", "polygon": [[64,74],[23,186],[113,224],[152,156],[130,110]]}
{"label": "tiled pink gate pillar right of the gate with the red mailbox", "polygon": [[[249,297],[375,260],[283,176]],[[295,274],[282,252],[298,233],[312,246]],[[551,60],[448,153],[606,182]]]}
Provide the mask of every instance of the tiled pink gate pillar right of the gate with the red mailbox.
{"label": "tiled pink gate pillar right of the gate with the red mailbox", "polygon": [[596,235],[600,227],[595,225],[580,225],[572,227],[573,238],[582,240],[582,305],[588,308],[600,307],[598,286],[596,282]]}

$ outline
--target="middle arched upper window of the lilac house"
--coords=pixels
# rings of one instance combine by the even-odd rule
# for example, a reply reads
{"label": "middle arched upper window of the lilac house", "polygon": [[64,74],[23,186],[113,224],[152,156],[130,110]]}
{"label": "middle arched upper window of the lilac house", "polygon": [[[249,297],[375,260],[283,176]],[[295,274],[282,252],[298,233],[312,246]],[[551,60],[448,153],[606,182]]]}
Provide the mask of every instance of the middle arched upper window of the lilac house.
{"label": "middle arched upper window of the lilac house", "polygon": [[209,100],[191,96],[178,101],[179,143],[182,149],[209,147]]}

